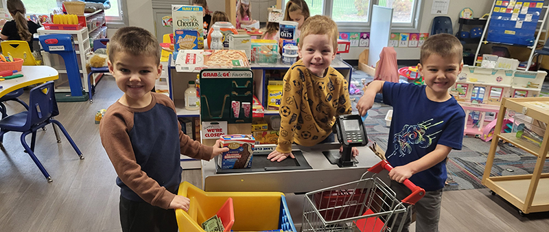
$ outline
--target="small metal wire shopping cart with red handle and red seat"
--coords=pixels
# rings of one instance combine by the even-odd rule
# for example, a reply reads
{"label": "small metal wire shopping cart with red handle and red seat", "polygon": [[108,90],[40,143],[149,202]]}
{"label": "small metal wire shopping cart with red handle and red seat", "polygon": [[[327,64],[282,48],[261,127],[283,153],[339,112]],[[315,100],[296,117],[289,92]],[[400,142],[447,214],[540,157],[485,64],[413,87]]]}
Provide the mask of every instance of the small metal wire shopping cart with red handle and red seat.
{"label": "small metal wire shopping cart with red handle and red seat", "polygon": [[[410,207],[423,198],[425,190],[406,179],[404,185],[412,194],[397,200],[395,192],[376,176],[384,169],[393,167],[384,160],[359,181],[305,194],[301,231],[401,231]],[[367,178],[369,172],[374,174]]]}

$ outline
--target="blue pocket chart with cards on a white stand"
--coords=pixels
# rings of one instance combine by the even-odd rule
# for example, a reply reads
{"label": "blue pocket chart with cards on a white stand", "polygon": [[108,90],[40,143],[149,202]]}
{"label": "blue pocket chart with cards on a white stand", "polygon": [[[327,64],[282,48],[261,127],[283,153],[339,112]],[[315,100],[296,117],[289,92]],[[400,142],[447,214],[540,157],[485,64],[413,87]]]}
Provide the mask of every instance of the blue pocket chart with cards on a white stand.
{"label": "blue pocket chart with cards on a white stand", "polygon": [[474,65],[480,63],[476,58],[480,54],[482,45],[493,43],[530,49],[526,66],[518,68],[528,70],[532,65],[539,36],[546,32],[544,28],[547,13],[548,6],[544,5],[543,0],[494,0],[486,22],[487,27],[484,27],[476,49]]}

